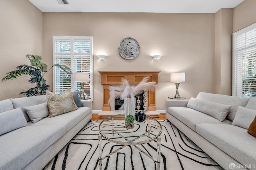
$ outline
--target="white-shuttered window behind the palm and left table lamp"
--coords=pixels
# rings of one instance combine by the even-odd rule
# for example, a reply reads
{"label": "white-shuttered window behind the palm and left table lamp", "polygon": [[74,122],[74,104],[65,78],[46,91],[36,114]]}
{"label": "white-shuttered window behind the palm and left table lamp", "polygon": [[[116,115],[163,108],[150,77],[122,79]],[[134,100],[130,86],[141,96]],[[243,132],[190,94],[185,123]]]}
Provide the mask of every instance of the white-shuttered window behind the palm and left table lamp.
{"label": "white-shuttered window behind the palm and left table lamp", "polygon": [[58,67],[53,69],[54,93],[66,89],[81,89],[79,82],[74,82],[74,73],[89,73],[89,81],[84,85],[84,93],[93,99],[92,73],[92,36],[53,36],[53,63],[66,65],[73,74],[68,75]]}

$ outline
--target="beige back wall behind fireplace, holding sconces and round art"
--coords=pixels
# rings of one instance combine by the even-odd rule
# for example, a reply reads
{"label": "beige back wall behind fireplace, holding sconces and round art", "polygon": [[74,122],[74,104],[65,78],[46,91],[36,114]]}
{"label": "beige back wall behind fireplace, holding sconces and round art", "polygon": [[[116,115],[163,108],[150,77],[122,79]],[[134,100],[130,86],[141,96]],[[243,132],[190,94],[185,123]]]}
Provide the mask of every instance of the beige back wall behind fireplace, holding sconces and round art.
{"label": "beige back wall behind fireplace, holding sconces and round art", "polygon": [[[175,94],[170,73],[186,72],[180,95],[190,99],[200,91],[214,93],[214,14],[153,13],[43,13],[43,56],[52,64],[52,36],[93,36],[94,101],[102,109],[102,85],[98,71],[161,71],[156,87],[156,107]],[[118,44],[132,37],[140,54],[132,60],[120,57]],[[101,61],[97,55],[108,55]],[[162,55],[153,61],[151,55]],[[46,76],[52,88],[52,72]]]}

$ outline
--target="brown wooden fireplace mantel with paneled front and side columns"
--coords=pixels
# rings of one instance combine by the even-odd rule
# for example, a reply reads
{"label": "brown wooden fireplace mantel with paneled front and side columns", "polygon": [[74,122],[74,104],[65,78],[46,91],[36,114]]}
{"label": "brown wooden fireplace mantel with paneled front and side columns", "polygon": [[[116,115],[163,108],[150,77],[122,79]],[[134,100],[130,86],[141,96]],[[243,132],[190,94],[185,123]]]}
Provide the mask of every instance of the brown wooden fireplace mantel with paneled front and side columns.
{"label": "brown wooden fireplace mantel with paneled front and side columns", "polygon": [[[110,111],[110,85],[119,85],[122,78],[129,81],[130,85],[137,85],[144,77],[149,77],[148,82],[154,81],[158,84],[158,73],[160,71],[98,71],[101,74],[103,85],[103,107],[102,111]],[[148,111],[156,111],[156,93],[148,92]]]}

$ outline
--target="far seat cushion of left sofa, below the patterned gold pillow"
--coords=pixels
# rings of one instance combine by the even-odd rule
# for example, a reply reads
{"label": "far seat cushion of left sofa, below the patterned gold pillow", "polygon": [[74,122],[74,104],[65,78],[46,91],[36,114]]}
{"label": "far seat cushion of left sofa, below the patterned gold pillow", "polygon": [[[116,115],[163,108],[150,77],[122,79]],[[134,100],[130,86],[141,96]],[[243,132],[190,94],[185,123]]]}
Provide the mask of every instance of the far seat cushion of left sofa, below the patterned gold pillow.
{"label": "far seat cushion of left sofa, below the patterned gold pillow", "polygon": [[68,132],[76,124],[78,124],[84,117],[90,114],[89,107],[79,107],[75,111],[71,111],[56,117],[44,118],[37,123],[29,123],[29,125],[64,125],[66,126],[66,131]]}

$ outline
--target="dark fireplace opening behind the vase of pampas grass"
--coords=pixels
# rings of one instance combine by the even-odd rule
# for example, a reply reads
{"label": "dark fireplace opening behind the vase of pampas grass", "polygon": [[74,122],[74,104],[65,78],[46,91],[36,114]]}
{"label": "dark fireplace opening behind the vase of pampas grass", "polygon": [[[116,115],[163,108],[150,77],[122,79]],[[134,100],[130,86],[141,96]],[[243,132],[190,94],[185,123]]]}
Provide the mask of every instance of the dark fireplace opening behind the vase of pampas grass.
{"label": "dark fireplace opening behind the vase of pampas grass", "polygon": [[[147,112],[147,94],[146,91],[135,96],[135,111],[136,112]],[[124,104],[124,100],[115,99],[115,110],[119,110],[119,108]]]}

